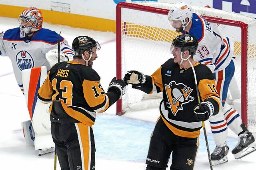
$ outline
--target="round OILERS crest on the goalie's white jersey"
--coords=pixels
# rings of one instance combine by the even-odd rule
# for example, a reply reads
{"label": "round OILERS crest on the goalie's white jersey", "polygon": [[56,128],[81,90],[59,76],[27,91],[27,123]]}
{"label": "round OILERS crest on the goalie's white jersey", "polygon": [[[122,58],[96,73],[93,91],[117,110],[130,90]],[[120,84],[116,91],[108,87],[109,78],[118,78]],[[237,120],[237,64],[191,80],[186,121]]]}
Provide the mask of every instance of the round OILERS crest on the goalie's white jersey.
{"label": "round OILERS crest on the goalie's white jersey", "polygon": [[33,68],[34,67],[34,60],[28,51],[20,51],[16,55],[16,61],[20,70]]}

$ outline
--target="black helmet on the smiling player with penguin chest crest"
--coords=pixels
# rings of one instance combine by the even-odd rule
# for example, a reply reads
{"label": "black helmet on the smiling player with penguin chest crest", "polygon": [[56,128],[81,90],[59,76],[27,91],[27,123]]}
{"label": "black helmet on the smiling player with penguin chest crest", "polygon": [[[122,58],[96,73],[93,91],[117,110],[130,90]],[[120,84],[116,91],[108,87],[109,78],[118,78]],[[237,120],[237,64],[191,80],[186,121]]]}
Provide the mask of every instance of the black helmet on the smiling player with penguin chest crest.
{"label": "black helmet on the smiling player with penguin chest crest", "polygon": [[176,37],[172,41],[172,46],[180,47],[181,52],[189,51],[190,55],[193,56],[196,54],[196,49],[198,47],[198,41],[196,38],[189,34],[182,34]]}

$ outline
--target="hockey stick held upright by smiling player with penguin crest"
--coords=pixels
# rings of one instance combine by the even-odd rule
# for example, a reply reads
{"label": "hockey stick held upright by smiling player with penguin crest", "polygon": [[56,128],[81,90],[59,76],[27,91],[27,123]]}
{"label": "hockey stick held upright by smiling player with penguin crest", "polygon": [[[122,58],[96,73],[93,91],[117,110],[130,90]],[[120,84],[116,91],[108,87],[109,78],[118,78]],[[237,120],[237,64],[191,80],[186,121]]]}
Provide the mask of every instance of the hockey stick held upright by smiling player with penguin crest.
{"label": "hockey stick held upright by smiling player with penguin crest", "polygon": [[[193,70],[193,74],[194,74],[194,78],[195,78],[195,84],[196,84],[196,94],[197,94],[197,98],[198,98],[198,104],[199,104],[199,107],[200,107],[201,102],[200,102],[198,85],[197,85],[197,80],[196,80],[196,72],[194,70],[194,66],[192,65],[192,63],[189,60],[188,60],[188,63],[190,64],[190,66],[192,67],[192,70]],[[210,164],[210,169],[213,170],[213,168],[212,168],[212,159],[211,159],[211,155],[210,155],[210,149],[209,149],[209,144],[208,144],[208,139],[207,139],[207,135],[206,135],[206,129],[205,129],[204,121],[202,121],[202,125],[203,125],[203,129],[204,129],[204,138],[205,138],[206,149],[207,149],[207,153],[208,153],[208,160],[209,160],[209,164]]]}

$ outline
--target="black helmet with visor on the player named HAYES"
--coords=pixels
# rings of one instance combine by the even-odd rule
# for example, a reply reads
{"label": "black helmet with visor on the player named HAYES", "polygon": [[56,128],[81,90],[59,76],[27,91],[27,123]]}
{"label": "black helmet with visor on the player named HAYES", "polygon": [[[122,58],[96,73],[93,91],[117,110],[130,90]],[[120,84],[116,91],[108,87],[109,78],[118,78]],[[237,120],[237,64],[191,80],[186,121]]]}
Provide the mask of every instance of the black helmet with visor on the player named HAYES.
{"label": "black helmet with visor on the player named HAYES", "polygon": [[88,51],[92,53],[92,48],[97,47],[97,50],[100,50],[100,44],[98,41],[95,41],[91,37],[88,36],[79,36],[73,40],[72,49],[75,52],[75,56],[82,56],[84,51]]}

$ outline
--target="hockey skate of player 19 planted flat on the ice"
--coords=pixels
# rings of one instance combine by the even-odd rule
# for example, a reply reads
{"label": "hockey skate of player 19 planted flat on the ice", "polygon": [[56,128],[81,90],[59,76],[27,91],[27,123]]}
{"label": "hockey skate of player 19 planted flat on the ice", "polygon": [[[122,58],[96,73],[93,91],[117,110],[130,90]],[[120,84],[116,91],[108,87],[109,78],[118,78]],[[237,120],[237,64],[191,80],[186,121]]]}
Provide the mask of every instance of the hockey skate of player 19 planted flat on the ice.
{"label": "hockey skate of player 19 planted flat on the ice", "polygon": [[212,165],[218,165],[228,162],[228,150],[229,148],[227,145],[225,145],[224,147],[216,146],[211,154]]}

